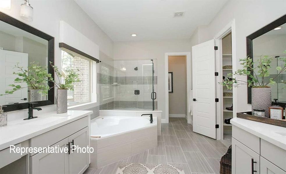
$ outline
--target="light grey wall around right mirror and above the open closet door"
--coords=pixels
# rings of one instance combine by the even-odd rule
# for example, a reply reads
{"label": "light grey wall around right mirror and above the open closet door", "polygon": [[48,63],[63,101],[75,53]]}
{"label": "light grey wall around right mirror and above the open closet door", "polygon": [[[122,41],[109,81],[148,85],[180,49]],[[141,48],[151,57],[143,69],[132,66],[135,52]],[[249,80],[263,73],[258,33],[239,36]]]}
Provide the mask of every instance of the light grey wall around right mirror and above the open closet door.
{"label": "light grey wall around right mirror and above the open closet door", "polygon": [[[213,39],[228,23],[235,19],[236,67],[241,68],[240,58],[246,57],[246,36],[271,23],[286,13],[286,1],[228,1],[207,26],[198,27],[199,43]],[[197,38],[191,39],[192,43]],[[193,44],[192,44],[193,46]],[[238,77],[245,80],[244,77]],[[247,104],[247,86],[237,88],[237,112],[251,110]]]}

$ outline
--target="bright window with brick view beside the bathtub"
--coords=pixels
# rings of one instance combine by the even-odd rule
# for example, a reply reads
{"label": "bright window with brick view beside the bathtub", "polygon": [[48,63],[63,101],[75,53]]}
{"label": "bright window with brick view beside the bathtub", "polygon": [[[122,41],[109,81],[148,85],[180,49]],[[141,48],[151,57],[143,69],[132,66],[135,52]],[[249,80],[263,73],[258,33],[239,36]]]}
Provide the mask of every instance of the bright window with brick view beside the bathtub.
{"label": "bright window with brick view beside the bathtub", "polygon": [[[92,79],[92,60],[71,52],[62,50],[62,82],[66,76],[66,70],[73,68],[78,74],[80,82],[74,83],[74,90],[67,91],[67,104],[69,106],[90,102],[90,89]],[[96,71],[95,71],[96,72]]]}

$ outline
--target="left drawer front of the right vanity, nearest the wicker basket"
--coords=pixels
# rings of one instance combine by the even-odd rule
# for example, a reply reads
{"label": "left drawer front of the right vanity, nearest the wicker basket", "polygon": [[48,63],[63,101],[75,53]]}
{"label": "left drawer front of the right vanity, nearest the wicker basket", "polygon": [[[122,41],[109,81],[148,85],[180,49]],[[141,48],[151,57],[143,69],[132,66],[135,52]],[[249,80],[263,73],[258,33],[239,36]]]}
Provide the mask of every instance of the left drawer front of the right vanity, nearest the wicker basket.
{"label": "left drawer front of the right vanity, nearest the wicker basket", "polygon": [[237,126],[232,126],[232,137],[237,139],[242,144],[246,145],[251,150],[260,154],[260,138],[242,130]]}

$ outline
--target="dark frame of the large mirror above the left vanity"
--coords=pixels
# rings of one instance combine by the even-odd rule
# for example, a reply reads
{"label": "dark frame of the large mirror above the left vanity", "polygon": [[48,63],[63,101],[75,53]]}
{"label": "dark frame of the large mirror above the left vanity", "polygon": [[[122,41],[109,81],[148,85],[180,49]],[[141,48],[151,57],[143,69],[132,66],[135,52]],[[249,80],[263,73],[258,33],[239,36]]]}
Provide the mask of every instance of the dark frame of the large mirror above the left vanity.
{"label": "dark frame of the large mirror above the left vanity", "polygon": [[[17,27],[21,30],[24,30],[26,32],[29,32],[35,36],[38,36],[42,39],[45,39],[48,41],[48,61],[50,62],[54,62],[54,45],[55,45],[55,38],[40,31],[37,30],[36,28],[33,28],[32,26],[29,26],[28,24],[21,22],[13,17],[10,17],[9,15],[0,12],[0,20],[8,23],[14,27]],[[52,77],[54,78],[54,69],[52,68],[52,66],[49,64],[48,66],[48,73],[50,73],[52,75]],[[51,88],[48,92],[48,100],[43,100],[43,101],[38,101],[37,104],[35,104],[35,106],[47,106],[47,105],[52,105],[54,104],[54,83],[53,82],[48,82],[49,87]],[[28,103],[19,103],[19,104],[9,104],[6,105],[7,107],[4,108],[5,112],[9,112],[9,111],[13,111],[13,110],[21,110],[21,109],[27,109],[28,108]]]}

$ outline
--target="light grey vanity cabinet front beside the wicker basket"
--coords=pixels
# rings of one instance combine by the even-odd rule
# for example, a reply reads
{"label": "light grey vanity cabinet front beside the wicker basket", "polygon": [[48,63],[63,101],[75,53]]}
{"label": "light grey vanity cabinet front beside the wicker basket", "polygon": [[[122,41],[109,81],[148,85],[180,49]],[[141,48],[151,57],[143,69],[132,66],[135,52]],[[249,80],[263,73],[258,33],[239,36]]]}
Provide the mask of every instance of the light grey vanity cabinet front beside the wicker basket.
{"label": "light grey vanity cabinet front beside the wicker basket", "polygon": [[233,174],[286,174],[286,150],[232,125]]}

